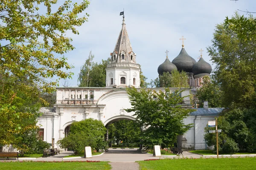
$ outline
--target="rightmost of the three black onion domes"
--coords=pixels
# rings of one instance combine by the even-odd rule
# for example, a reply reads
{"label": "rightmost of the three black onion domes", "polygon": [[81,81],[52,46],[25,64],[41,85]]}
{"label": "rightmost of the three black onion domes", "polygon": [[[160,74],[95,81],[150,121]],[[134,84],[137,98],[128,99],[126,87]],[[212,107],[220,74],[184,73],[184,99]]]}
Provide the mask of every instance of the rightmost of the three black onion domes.
{"label": "rightmost of the three black onion domes", "polygon": [[198,62],[193,65],[192,72],[194,75],[202,73],[210,74],[212,72],[212,66],[201,57]]}

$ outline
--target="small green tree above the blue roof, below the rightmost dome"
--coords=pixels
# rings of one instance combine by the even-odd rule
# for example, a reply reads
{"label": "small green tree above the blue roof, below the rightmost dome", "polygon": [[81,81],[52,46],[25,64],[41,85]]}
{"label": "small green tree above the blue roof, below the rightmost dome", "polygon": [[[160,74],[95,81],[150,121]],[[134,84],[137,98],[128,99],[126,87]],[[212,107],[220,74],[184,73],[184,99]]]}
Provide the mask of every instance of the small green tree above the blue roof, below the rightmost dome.
{"label": "small green tree above the blue roof, below the rightmost dome", "polygon": [[220,85],[208,76],[203,77],[203,86],[198,89],[196,97],[199,100],[200,107],[204,106],[204,101],[208,101],[209,108],[222,107],[222,92]]}

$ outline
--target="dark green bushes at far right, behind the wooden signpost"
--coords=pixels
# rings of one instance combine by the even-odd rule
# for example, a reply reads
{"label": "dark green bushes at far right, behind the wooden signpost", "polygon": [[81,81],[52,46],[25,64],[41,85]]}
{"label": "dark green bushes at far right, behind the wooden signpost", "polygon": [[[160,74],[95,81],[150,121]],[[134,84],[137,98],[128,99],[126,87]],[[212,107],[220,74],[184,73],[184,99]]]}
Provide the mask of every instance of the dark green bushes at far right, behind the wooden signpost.
{"label": "dark green bushes at far right, behind the wooden signpost", "polygon": [[[256,151],[256,126],[254,121],[255,109],[233,109],[223,113],[218,118],[218,129],[222,132],[218,136],[219,148],[223,153],[255,152]],[[207,145],[216,146],[216,136],[214,133],[208,133],[213,130],[205,128],[205,140]]]}

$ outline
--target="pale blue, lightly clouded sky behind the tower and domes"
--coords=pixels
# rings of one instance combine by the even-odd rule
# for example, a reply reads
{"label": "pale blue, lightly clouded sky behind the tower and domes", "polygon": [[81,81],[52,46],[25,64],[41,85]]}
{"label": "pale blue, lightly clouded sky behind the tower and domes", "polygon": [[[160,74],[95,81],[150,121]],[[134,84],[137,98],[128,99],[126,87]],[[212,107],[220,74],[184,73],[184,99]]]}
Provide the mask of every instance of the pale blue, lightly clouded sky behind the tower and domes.
{"label": "pale blue, lightly clouded sky behind the tower and domes", "polygon": [[[74,0],[73,0],[74,2]],[[76,1],[79,2],[79,1]],[[94,61],[110,57],[122,28],[120,12],[125,8],[125,23],[136,61],[147,82],[158,77],[157,68],[169,51],[172,61],[180,53],[184,36],[187,53],[198,61],[199,50],[212,65],[207,47],[212,45],[216,24],[239,10],[256,11],[256,0],[91,0],[83,12],[90,14],[88,22],[78,28],[79,35],[67,32],[76,49],[65,55],[74,66],[69,85],[78,85],[78,74],[90,51]],[[239,12],[240,14],[246,14]],[[212,65],[214,68],[214,65]],[[60,87],[64,80],[60,81]]]}

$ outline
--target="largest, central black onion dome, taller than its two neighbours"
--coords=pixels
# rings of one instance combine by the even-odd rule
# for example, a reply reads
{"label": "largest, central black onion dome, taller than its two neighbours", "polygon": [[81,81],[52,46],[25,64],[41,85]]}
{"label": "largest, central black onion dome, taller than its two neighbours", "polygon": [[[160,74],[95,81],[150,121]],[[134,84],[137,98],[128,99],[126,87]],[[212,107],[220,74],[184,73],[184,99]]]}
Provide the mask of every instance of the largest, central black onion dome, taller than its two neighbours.
{"label": "largest, central black onion dome, taller than its two neighbours", "polygon": [[196,61],[187,54],[185,48],[181,48],[180,54],[172,60],[172,63],[176,65],[178,71],[183,70],[191,73]]}

